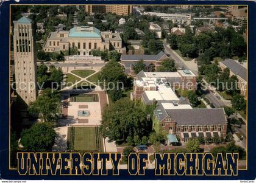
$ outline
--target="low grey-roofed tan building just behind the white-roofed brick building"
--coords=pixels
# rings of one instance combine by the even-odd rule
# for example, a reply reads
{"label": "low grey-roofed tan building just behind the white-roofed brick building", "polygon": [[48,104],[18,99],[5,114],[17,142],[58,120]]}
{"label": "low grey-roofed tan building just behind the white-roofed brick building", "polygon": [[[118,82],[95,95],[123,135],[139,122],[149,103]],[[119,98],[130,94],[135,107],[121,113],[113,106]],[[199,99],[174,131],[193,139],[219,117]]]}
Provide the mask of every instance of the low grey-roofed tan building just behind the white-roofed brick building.
{"label": "low grey-roofed tan building just behind the white-roofed brick building", "polygon": [[135,76],[133,65],[139,60],[143,60],[146,64],[146,71],[154,72],[166,58],[168,56],[164,52],[159,52],[157,55],[121,55],[121,64],[124,66],[126,74]]}

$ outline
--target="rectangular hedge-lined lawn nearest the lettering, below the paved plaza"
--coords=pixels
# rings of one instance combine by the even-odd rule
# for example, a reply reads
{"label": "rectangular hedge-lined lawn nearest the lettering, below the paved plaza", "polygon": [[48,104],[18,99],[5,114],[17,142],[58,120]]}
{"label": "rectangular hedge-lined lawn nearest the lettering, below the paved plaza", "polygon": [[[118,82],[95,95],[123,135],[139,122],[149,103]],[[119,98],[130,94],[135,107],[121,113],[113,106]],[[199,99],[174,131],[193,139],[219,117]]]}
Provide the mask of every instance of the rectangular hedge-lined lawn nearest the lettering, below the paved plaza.
{"label": "rectangular hedge-lined lawn nearest the lettering, below the paved plaza", "polygon": [[103,139],[99,128],[68,127],[68,144],[71,151],[103,151]]}

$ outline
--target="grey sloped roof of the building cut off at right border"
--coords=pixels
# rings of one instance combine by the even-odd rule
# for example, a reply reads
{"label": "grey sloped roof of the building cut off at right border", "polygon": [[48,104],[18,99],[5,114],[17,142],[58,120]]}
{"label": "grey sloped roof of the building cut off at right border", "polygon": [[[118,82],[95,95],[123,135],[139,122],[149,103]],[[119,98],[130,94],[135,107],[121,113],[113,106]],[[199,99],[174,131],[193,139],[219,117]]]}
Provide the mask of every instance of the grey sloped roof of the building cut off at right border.
{"label": "grey sloped roof of the building cut off at right border", "polygon": [[241,66],[235,60],[232,60],[232,59],[223,60],[223,61],[221,61],[221,63],[224,64],[226,67],[228,67],[230,69],[230,71],[233,72],[233,74],[238,75],[241,78],[243,78],[243,80],[247,81],[247,71],[246,71],[246,68]]}

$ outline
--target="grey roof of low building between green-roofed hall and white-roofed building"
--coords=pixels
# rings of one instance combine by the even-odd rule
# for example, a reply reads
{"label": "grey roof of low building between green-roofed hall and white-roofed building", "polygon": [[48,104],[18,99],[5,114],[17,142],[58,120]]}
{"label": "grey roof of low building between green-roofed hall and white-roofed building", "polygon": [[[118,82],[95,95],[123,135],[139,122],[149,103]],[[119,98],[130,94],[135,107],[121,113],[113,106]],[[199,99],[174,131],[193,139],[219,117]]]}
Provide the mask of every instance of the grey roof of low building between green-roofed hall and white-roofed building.
{"label": "grey roof of low building between green-roofed hall and white-roofed building", "polygon": [[141,59],[143,59],[144,61],[160,60],[160,58],[162,58],[163,55],[165,55],[163,51],[159,52],[157,55],[122,55],[121,60],[122,61],[126,61],[126,60],[138,61]]}

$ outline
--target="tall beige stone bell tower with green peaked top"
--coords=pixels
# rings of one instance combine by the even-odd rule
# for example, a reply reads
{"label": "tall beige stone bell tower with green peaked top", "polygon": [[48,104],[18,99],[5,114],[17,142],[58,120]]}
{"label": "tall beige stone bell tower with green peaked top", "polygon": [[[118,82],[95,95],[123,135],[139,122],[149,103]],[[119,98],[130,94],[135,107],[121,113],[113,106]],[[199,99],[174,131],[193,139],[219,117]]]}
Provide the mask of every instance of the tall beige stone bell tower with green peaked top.
{"label": "tall beige stone bell tower with green peaked top", "polygon": [[37,97],[37,57],[34,22],[23,16],[13,21],[16,92],[27,103]]}

